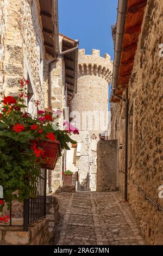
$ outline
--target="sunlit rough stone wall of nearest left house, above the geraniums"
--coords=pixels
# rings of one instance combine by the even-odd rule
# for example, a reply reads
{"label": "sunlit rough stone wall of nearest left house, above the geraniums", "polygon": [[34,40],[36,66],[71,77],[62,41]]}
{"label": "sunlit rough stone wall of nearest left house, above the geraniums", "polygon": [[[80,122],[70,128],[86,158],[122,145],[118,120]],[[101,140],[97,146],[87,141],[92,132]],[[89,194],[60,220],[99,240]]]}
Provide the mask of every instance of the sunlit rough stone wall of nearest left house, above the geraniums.
{"label": "sunlit rough stone wall of nearest left house, above the geraniums", "polygon": [[[48,62],[43,46],[39,1],[7,0],[0,5],[0,93],[16,95],[18,80],[29,78],[39,108],[47,107]],[[40,64],[41,62],[41,64]]]}

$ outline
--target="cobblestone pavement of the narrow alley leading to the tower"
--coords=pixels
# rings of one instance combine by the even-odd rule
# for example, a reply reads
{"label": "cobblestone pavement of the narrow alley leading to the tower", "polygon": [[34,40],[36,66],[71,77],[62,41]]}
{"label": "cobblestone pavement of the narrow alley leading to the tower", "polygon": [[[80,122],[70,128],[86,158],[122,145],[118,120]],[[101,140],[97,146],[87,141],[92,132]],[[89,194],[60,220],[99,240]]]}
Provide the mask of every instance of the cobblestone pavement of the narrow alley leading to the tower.
{"label": "cobblestone pavement of the narrow alley leading to the tower", "polygon": [[121,192],[55,194],[60,220],[54,245],[144,245],[145,241]]}

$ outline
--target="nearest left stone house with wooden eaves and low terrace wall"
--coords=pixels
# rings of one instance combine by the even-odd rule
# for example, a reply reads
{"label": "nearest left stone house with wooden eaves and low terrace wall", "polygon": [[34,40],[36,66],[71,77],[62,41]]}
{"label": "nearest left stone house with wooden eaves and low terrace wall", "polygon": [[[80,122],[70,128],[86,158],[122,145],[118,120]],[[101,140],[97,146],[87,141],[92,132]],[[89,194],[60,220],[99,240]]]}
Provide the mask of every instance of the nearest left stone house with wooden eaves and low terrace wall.
{"label": "nearest left stone house with wooden eaves and low terrace wall", "polygon": [[[0,100],[4,95],[16,96],[20,89],[19,80],[24,77],[29,81],[27,112],[34,117],[39,109],[49,108],[53,86],[51,72],[55,69],[50,63],[58,56],[57,0],[0,2]],[[35,101],[40,102],[37,107]],[[54,198],[48,204],[47,218],[30,225],[29,231],[23,231],[22,227],[3,227],[0,230],[1,245],[48,244],[54,236],[58,213],[57,202],[53,201]],[[52,205],[56,208],[52,209]],[[22,216],[18,215],[22,212],[22,204],[15,202],[12,210],[12,216],[16,212],[14,223],[21,224]]]}

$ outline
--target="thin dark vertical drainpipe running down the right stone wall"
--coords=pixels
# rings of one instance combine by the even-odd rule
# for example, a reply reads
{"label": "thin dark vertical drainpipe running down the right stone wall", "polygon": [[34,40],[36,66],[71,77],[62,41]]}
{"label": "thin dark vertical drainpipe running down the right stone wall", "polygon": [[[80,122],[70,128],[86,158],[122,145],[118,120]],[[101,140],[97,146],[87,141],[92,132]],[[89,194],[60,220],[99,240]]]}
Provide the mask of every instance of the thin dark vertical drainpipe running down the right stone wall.
{"label": "thin dark vertical drainpipe running down the right stone wall", "polygon": [[127,172],[128,172],[128,88],[126,88],[126,112],[125,112],[125,155],[124,155],[124,200],[127,200]]}

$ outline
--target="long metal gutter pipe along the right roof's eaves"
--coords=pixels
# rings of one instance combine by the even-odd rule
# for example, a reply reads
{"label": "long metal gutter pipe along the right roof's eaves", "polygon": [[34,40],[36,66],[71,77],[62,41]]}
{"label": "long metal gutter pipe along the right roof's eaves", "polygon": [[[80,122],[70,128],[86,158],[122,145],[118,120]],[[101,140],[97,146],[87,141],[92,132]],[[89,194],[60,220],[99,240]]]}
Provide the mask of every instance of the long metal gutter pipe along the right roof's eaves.
{"label": "long metal gutter pipe along the right roof's eaves", "polygon": [[[124,100],[121,96],[115,94],[115,90],[117,89],[118,83],[118,74],[121,63],[121,52],[122,52],[122,44],[123,44],[123,35],[124,35],[124,27],[126,22],[126,13],[127,13],[127,4],[128,0],[119,0],[118,1],[118,11],[117,11],[117,22],[116,22],[116,41],[114,48],[114,64],[112,71],[112,82],[111,82],[111,95],[110,95],[110,103],[112,102],[113,97],[117,99]],[[125,100],[124,100],[125,101]]]}

